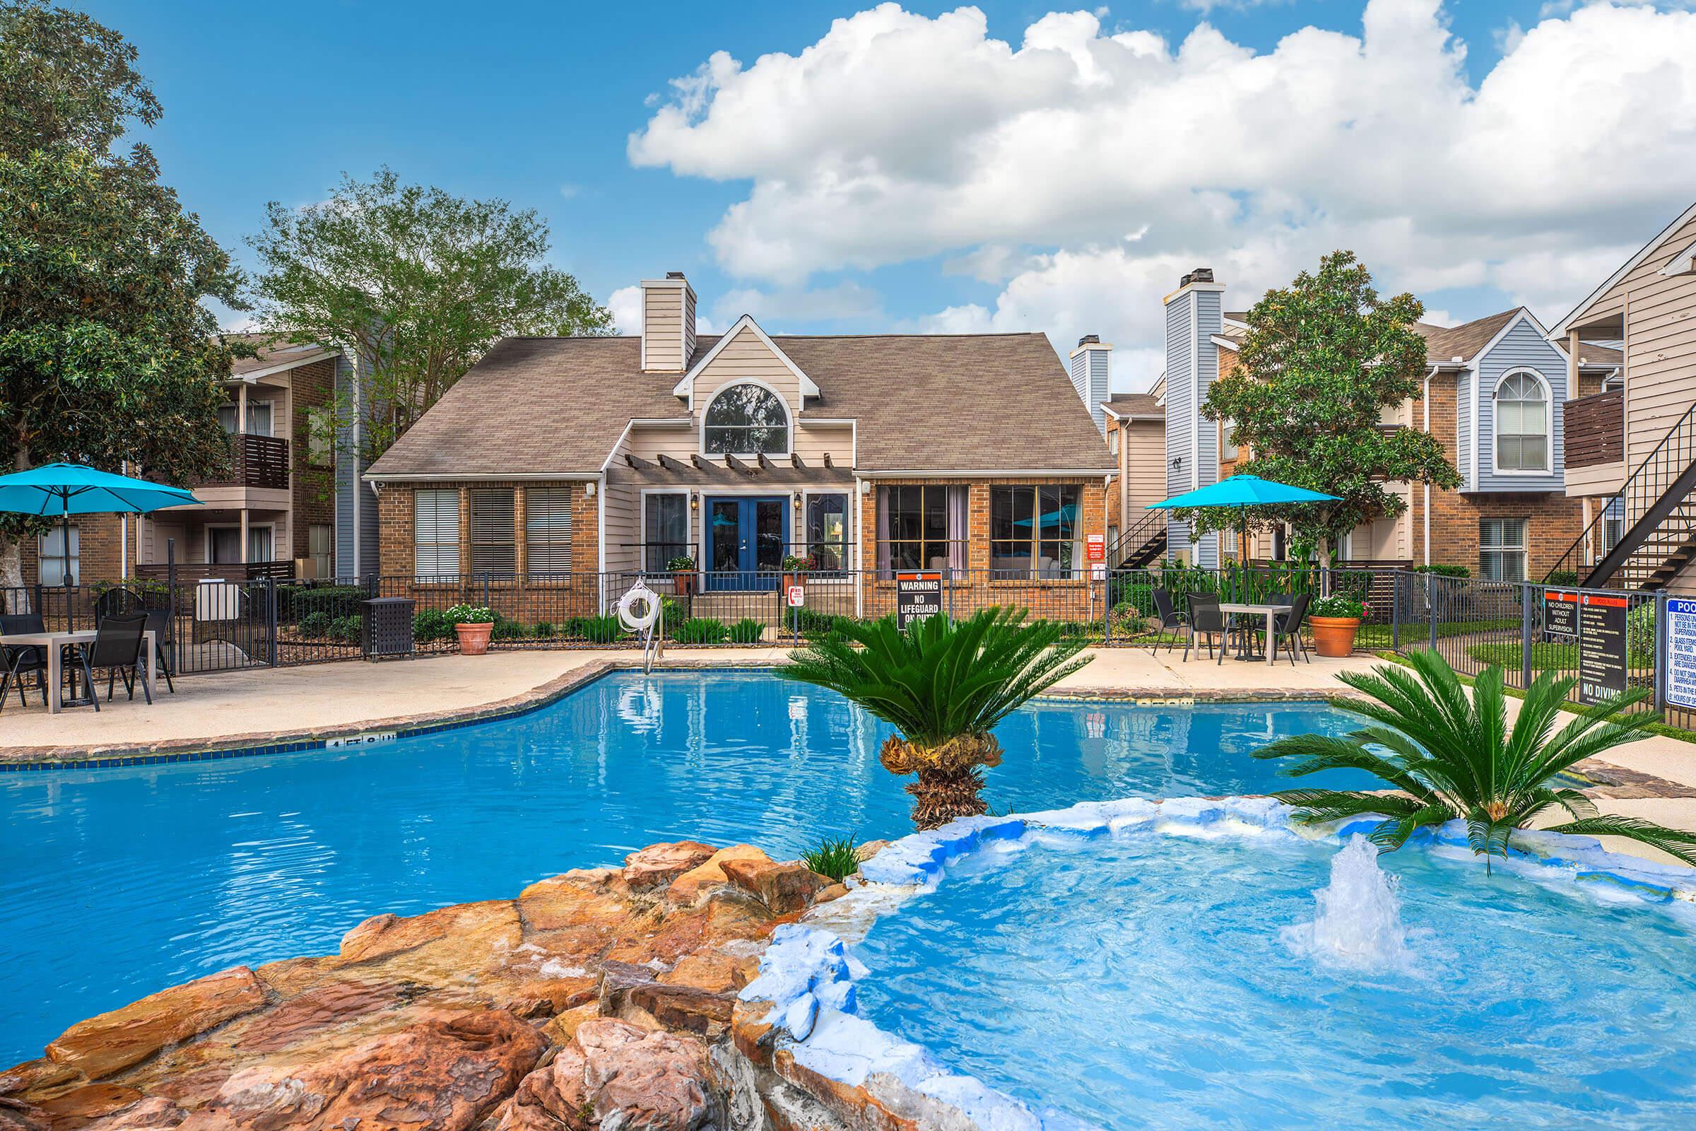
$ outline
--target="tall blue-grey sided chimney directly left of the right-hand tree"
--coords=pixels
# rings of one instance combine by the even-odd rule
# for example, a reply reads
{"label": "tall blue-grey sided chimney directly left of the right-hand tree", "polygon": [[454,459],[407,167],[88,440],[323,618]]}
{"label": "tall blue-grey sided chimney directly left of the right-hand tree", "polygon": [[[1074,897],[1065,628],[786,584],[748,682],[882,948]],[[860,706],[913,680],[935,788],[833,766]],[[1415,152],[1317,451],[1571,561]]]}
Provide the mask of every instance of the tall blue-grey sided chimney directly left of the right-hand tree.
{"label": "tall blue-grey sided chimney directly left of the right-hand tree", "polygon": [[[1219,432],[1201,415],[1208,388],[1219,375],[1213,336],[1225,327],[1225,285],[1213,268],[1196,268],[1165,297],[1167,495],[1219,482]],[[1189,524],[1167,521],[1167,546],[1187,549],[1192,565],[1219,565],[1219,536],[1191,541]]]}

